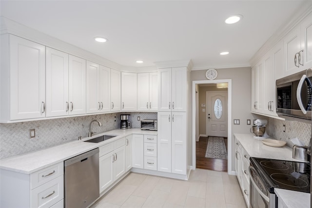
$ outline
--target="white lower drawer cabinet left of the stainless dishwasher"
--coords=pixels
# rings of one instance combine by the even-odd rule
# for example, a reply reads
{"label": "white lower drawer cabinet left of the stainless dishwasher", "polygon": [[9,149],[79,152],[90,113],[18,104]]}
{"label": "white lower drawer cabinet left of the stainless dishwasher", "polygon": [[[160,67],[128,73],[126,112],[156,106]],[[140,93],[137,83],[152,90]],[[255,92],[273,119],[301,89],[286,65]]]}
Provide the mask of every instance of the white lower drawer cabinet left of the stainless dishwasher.
{"label": "white lower drawer cabinet left of the stainless dishwasher", "polygon": [[63,207],[59,204],[64,198],[63,162],[31,174],[0,171],[1,208]]}

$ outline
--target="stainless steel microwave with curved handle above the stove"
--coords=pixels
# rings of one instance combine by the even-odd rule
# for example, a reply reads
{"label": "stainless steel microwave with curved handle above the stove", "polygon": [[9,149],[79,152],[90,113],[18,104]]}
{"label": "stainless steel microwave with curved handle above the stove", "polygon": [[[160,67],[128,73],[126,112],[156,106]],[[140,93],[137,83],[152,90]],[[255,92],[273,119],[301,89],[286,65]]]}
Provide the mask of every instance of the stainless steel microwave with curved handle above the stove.
{"label": "stainless steel microwave with curved handle above the stove", "polygon": [[[311,120],[312,68],[276,80],[276,113]],[[294,119],[296,120],[296,119]]]}

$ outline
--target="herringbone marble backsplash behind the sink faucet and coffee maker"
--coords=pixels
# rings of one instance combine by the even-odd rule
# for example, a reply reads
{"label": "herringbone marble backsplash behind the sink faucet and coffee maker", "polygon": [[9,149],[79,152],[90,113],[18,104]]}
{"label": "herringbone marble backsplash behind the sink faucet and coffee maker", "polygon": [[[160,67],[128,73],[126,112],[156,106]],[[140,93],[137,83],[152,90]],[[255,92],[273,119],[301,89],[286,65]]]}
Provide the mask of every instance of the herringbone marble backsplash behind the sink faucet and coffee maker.
{"label": "herringbone marble backsplash behind the sink faucet and coffee maker", "polygon": [[[0,159],[59,145],[88,135],[90,121],[97,119],[102,123],[92,124],[93,132],[106,132],[120,128],[120,114],[107,113],[68,118],[56,118],[40,121],[27,121],[12,124],[0,124]],[[157,119],[157,113],[132,112],[132,127],[139,128],[141,119]],[[116,116],[116,121],[115,120]],[[36,137],[30,139],[29,130],[36,130]]]}

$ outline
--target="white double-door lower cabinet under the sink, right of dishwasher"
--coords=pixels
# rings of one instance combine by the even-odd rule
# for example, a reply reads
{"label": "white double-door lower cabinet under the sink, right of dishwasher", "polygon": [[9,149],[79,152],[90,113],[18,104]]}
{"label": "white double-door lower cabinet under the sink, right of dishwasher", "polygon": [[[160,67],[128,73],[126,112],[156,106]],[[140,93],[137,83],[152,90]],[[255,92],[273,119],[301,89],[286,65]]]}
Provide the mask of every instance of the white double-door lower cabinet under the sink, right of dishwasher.
{"label": "white double-door lower cabinet under the sink, right of dishwasher", "polygon": [[99,192],[101,193],[126,172],[125,138],[99,148]]}

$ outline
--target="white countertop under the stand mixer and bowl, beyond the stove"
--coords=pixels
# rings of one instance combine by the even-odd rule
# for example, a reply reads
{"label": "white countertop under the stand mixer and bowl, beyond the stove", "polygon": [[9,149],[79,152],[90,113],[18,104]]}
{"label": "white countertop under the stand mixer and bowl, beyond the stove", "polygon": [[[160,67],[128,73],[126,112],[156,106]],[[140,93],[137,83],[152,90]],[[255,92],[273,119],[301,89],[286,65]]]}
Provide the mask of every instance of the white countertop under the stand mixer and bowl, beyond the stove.
{"label": "white countertop under the stand mixer and bowl, beyond the stove", "polygon": [[261,142],[260,139],[255,139],[253,133],[252,134],[234,133],[234,136],[241,143],[243,148],[248,152],[248,154],[251,157],[304,162],[301,160],[293,159],[292,148],[286,145],[284,147],[271,147],[265,145]]}

